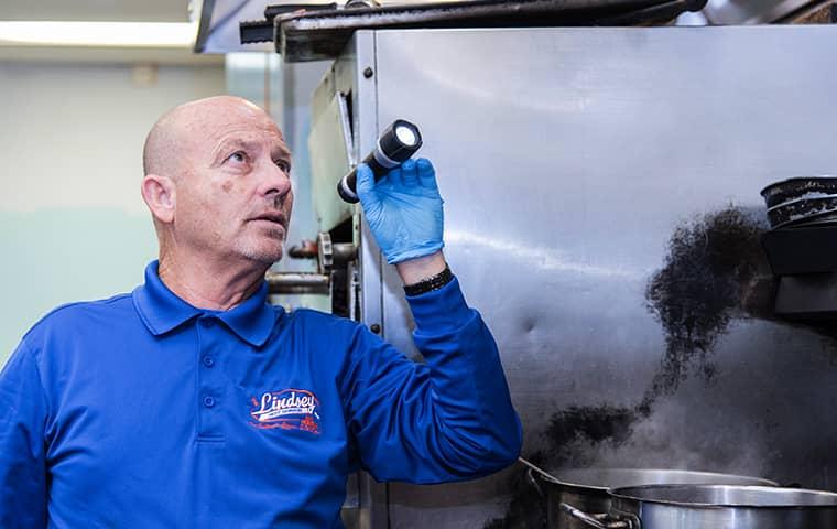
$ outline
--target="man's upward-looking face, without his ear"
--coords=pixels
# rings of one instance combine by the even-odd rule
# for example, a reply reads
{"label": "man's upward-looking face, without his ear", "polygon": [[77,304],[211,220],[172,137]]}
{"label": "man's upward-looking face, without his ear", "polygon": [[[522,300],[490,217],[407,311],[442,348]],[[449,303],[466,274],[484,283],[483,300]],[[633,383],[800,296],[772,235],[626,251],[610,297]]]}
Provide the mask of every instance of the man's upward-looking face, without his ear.
{"label": "man's upward-looking face, without his ear", "polygon": [[291,153],[275,123],[236,102],[196,116],[188,133],[176,182],[178,250],[268,266],[281,259],[293,193]]}

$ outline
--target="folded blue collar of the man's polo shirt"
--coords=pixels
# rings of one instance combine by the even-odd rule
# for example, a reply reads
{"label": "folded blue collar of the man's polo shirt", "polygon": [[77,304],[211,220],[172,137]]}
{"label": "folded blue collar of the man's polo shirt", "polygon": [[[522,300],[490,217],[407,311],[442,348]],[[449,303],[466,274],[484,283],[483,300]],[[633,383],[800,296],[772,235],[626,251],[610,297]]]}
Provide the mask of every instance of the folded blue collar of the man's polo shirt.
{"label": "folded blue collar of the man's polo shirt", "polygon": [[253,295],[233,309],[209,311],[192,306],[169,290],[160,279],[157,267],[156,260],[145,267],[145,284],[133,291],[133,304],[137,312],[154,336],[165,334],[195,317],[214,315],[241,339],[257,347],[264,345],[270,337],[279,314],[268,303],[265,282],[262,282]]}

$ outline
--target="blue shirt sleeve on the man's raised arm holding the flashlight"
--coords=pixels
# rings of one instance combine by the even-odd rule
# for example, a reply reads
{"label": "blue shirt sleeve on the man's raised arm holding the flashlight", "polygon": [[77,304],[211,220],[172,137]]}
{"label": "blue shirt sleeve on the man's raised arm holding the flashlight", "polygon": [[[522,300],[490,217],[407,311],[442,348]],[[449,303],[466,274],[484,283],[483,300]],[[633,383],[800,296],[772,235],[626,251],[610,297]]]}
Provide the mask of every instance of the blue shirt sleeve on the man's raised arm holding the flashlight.
{"label": "blue shirt sleeve on the man's raised arm holding the flashlight", "polygon": [[362,466],[378,481],[421,484],[508,466],[522,431],[488,327],[456,279],[407,302],[425,364],[362,325],[351,339],[345,395]]}

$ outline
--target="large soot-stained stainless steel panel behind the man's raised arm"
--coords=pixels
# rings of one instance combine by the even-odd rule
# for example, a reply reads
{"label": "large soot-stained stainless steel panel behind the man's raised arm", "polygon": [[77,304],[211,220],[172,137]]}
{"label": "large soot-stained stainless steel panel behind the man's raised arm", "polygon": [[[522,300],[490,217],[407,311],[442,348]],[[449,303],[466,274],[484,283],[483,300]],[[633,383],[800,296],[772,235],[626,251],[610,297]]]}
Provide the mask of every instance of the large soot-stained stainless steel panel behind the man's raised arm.
{"label": "large soot-stained stainless steel panel behind the man's raised arm", "polygon": [[[837,29],[376,39],[374,83],[356,79],[377,108],[356,118],[421,126],[446,256],[500,345],[525,454],[835,486],[837,343],[771,315],[758,234],[765,184],[834,173]],[[400,282],[368,242],[365,317],[382,270],[385,337],[414,352]],[[725,255],[741,269],[708,261]],[[513,473],[393,485],[391,527],[481,527]]]}

